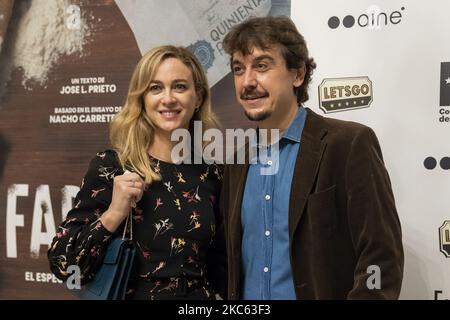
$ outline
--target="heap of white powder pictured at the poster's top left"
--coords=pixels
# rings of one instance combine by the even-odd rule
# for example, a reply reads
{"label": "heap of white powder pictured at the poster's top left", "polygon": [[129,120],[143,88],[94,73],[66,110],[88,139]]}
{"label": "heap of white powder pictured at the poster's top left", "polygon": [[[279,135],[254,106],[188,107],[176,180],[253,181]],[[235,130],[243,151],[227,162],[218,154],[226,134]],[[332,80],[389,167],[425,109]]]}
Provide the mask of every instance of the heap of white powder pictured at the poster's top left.
{"label": "heap of white powder pictured at the poster's top left", "polygon": [[18,23],[13,67],[23,70],[23,82],[44,85],[62,55],[81,54],[88,36],[80,8],[68,0],[31,0]]}

